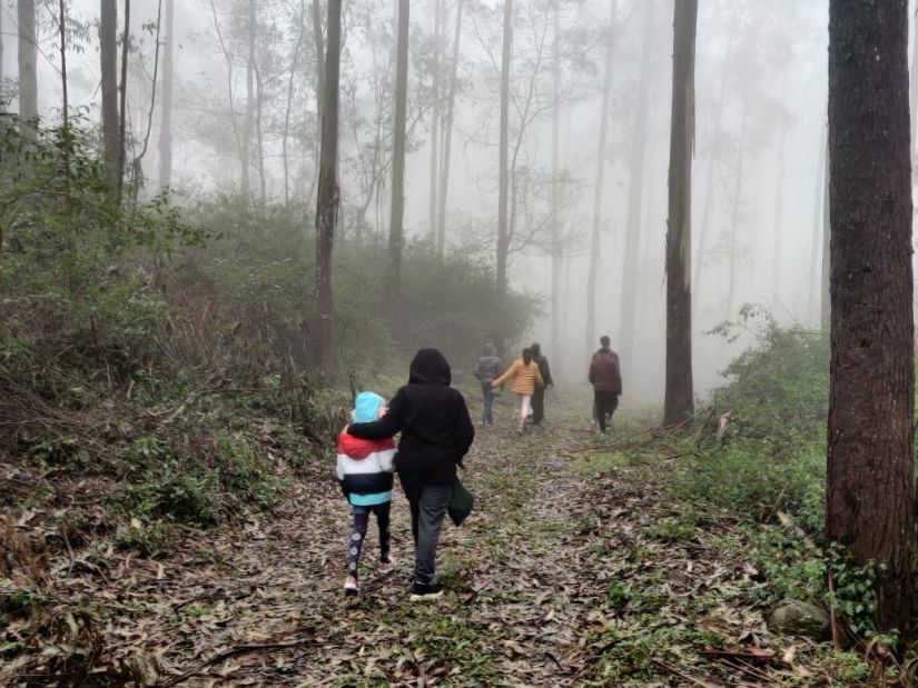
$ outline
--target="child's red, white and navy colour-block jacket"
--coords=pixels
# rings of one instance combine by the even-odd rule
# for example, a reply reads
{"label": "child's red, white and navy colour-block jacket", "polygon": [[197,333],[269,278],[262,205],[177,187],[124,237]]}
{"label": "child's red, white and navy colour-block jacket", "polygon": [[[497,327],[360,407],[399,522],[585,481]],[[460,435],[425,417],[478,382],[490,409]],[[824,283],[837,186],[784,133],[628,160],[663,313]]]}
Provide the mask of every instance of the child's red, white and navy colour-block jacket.
{"label": "child's red, white and navy colour-block jacket", "polygon": [[389,501],[394,458],[395,441],[392,438],[359,439],[342,432],[335,473],[347,500],[357,507]]}

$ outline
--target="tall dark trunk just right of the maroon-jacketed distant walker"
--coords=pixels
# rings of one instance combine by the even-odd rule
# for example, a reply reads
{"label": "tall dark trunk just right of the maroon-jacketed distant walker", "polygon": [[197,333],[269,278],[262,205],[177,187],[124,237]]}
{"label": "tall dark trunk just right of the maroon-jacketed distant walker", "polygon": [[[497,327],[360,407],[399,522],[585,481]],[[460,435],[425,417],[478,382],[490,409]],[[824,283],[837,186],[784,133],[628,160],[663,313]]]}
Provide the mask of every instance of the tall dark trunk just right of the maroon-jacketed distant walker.
{"label": "tall dark trunk just right of the maroon-jacketed distant walker", "polygon": [[667,392],[663,425],[694,412],[692,385],[692,150],[698,0],[677,0],[673,18],[672,122],[667,231]]}

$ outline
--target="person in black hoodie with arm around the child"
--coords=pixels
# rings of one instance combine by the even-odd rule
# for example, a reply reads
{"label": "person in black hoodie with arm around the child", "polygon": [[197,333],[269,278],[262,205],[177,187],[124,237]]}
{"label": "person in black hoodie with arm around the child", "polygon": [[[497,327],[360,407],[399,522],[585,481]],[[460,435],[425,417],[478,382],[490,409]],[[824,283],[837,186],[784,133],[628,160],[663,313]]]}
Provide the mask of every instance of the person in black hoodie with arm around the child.
{"label": "person in black hoodie with arm around the child", "polygon": [[440,530],[453,495],[456,466],[475,438],[465,398],[450,387],[451,381],[450,363],[443,353],[421,349],[412,361],[408,383],[392,398],[386,415],[347,428],[349,435],[363,439],[402,432],[395,470],[412,512],[413,600],[443,594],[434,580]]}

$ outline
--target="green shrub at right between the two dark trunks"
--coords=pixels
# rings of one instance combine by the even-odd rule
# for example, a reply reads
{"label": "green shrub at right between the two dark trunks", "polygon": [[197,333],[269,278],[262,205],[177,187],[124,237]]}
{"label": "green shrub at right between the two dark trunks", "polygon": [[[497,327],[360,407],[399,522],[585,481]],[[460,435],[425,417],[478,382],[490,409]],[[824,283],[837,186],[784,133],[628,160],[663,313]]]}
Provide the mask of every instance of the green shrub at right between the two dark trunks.
{"label": "green shrub at right between the two dark trunks", "polygon": [[673,489],[753,520],[789,513],[818,538],[826,489],[827,337],[779,327],[749,305],[715,332],[730,339],[752,333],[756,346],[728,365],[727,383],[713,392],[712,425],[729,413],[723,437],[709,429],[672,440],[684,453]]}

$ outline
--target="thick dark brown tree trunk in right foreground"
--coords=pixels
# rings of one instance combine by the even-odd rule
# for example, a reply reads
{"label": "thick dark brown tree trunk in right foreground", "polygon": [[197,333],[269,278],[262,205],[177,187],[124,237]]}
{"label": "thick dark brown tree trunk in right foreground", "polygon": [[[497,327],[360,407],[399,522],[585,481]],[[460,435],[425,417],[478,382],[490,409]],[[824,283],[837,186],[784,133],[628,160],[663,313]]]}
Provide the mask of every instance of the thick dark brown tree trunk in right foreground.
{"label": "thick dark brown tree trunk in right foreground", "polygon": [[827,540],[875,561],[876,625],[916,590],[908,3],[829,6],[831,365]]}

